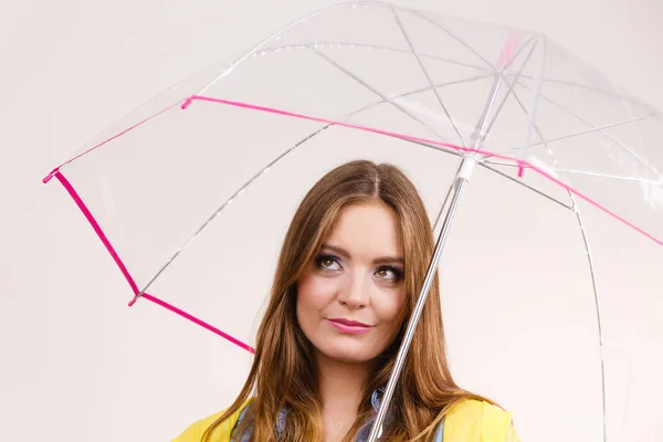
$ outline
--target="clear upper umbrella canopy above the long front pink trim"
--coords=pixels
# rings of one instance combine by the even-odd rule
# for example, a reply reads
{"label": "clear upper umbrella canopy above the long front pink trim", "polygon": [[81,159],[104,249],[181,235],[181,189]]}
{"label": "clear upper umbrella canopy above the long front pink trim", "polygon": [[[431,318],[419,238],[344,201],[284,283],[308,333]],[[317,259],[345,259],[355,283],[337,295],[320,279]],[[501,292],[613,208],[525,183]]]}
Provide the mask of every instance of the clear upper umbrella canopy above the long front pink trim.
{"label": "clear upper umbrella canopy above the long front pink trim", "polygon": [[[189,113],[176,106],[158,114],[190,96],[208,102],[193,110],[201,107],[197,103]],[[656,165],[663,162],[663,154],[655,141],[663,131],[661,117],[537,34],[375,2],[339,6],[295,22],[232,63],[189,78],[116,126],[116,134],[146,118],[159,118],[180,137],[187,134],[189,149],[204,149],[204,143],[193,147],[197,138],[189,133],[204,140],[222,123],[219,115],[206,119],[201,113],[225,112],[219,107],[229,102],[253,108],[254,114],[295,114],[439,148],[477,148],[492,155],[487,161],[494,165],[511,164],[514,177],[520,166],[540,168],[558,179],[557,185],[571,186],[655,240],[663,238],[661,210],[648,202],[631,210],[631,199],[609,197],[614,193],[611,187],[644,180],[643,200],[661,198],[663,177]],[[242,124],[256,127],[263,118],[248,113]],[[653,119],[657,122],[651,124]],[[167,133],[151,122],[131,129],[147,135],[129,137]],[[230,119],[225,123],[234,126]],[[283,123],[277,130],[285,131],[287,125],[298,123]],[[483,138],[477,144],[480,131]],[[215,136],[222,137],[219,131],[211,137]],[[277,136],[285,137],[281,145],[285,148],[305,134]],[[170,155],[166,150],[150,155]],[[559,189],[518,178],[559,198]]]}

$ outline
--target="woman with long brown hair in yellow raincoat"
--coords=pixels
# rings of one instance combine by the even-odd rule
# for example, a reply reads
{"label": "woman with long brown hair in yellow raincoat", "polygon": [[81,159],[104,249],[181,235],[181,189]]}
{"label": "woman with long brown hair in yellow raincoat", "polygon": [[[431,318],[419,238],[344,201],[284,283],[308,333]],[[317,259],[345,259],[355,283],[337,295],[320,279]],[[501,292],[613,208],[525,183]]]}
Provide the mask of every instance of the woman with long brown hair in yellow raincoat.
{"label": "woman with long brown hair in yellow raincoat", "polygon": [[[367,440],[433,248],[398,168],[328,172],[290,225],[243,389],[173,442]],[[517,440],[508,412],[453,381],[436,281],[380,440]]]}

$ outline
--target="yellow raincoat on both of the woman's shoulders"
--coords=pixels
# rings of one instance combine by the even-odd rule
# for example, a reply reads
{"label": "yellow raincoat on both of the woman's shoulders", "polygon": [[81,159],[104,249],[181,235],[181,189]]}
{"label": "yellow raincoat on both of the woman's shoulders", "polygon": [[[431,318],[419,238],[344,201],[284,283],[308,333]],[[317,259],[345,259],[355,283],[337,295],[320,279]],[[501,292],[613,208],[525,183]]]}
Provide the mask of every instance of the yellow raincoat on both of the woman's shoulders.
{"label": "yellow raincoat on both of the woman's shoulders", "polygon": [[[244,404],[244,407],[248,402]],[[230,442],[240,411],[217,428],[210,442]],[[223,412],[191,424],[172,442],[201,442],[204,430]],[[512,413],[487,402],[467,400],[444,418],[443,442],[520,442],[512,425]]]}

